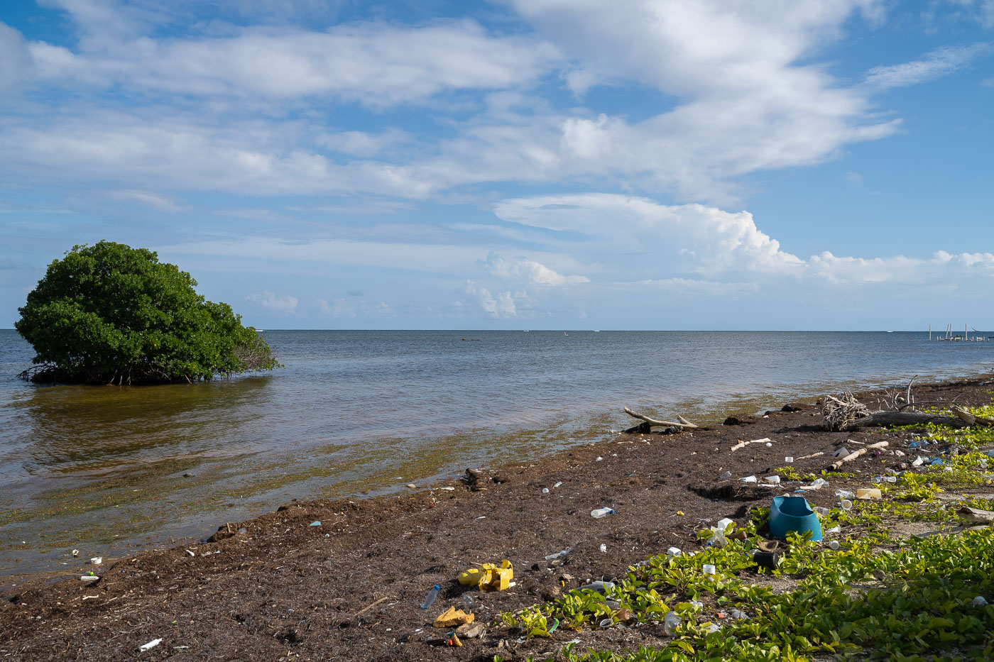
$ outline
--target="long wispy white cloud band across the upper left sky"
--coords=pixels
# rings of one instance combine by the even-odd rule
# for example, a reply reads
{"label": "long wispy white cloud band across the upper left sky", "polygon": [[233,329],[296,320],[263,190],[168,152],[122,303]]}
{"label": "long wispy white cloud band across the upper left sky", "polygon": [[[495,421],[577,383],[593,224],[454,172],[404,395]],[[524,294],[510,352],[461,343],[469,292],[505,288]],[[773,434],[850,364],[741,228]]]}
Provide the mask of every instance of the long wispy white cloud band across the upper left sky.
{"label": "long wispy white cloud band across the upper left sky", "polygon": [[447,89],[517,86],[534,81],[558,59],[548,44],[493,37],[469,20],[424,27],[357,23],[326,32],[246,28],[213,39],[100,40],[87,42],[81,52],[41,42],[29,48],[43,79],[70,86],[123,84],[149,93],[282,100],[329,96],[376,107]]}

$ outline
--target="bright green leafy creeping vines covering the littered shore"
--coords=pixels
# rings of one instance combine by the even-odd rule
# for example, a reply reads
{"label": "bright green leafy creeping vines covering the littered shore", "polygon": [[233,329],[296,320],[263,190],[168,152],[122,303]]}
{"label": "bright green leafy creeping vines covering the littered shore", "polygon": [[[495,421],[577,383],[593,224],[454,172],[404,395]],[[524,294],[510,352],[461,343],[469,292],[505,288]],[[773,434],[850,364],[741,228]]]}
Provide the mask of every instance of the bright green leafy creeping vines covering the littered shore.
{"label": "bright green leafy creeping vines covering the littered shore", "polygon": [[[994,407],[970,412],[990,415]],[[882,485],[884,500],[831,509],[822,527],[844,527],[833,536],[836,551],[810,541],[810,534],[791,533],[778,567],[752,572],[751,553],[769,514],[753,508],[742,540],[693,555],[650,557],[603,593],[572,590],[504,612],[497,625],[526,638],[551,637],[556,629],[563,636],[598,623],[617,626],[624,613],[629,624],[658,631],[676,614],[662,646],[580,650],[568,643],[555,658],[568,662],[994,659],[994,604],[984,597],[994,592],[994,529],[964,520],[959,510],[990,508],[990,495],[937,498],[944,490],[994,483],[991,458],[981,452],[994,444],[994,429],[925,428],[933,441],[957,444],[958,454]],[[911,522],[937,526],[929,535],[909,535]],[[711,535],[698,532],[701,541]],[[702,571],[706,564],[716,567],[715,575]]]}

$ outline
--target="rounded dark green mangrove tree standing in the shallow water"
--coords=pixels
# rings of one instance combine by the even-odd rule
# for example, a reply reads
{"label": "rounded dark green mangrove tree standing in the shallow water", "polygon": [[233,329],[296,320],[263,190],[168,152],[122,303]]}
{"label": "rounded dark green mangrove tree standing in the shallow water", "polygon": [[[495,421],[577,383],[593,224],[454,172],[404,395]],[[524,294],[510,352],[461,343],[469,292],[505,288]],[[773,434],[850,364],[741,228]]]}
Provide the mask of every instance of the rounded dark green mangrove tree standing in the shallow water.
{"label": "rounded dark green mangrove tree standing in the shallow water", "polygon": [[35,382],[195,382],[280,367],[268,344],[227,303],[155,251],[113,242],[55,259],[19,308],[34,347]]}

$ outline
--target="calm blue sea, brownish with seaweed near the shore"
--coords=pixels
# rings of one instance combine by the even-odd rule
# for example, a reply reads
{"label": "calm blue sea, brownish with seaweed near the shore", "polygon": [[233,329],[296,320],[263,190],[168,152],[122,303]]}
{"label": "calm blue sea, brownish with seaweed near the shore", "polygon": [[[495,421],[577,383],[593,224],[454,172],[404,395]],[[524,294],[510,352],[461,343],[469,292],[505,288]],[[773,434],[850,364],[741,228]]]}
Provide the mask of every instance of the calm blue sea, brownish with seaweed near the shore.
{"label": "calm blue sea, brownish with seaweed near the shore", "polygon": [[289,498],[527,462],[648,414],[720,420],[850,387],[989,372],[926,333],[269,331],[271,375],[39,387],[0,330],[0,575],[203,535]]}

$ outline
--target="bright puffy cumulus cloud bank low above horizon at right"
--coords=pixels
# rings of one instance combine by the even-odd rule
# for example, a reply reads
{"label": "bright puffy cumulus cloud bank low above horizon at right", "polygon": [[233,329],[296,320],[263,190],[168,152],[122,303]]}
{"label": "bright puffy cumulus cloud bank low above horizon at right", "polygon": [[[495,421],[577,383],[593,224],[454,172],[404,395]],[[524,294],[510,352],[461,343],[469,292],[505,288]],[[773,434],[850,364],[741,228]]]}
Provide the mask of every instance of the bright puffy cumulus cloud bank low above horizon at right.
{"label": "bright puffy cumulus cloud bank low above horizon at right", "polygon": [[[630,281],[640,286],[720,294],[723,287],[724,293],[746,292],[784,279],[938,285],[972,278],[994,287],[994,254],[990,252],[938,250],[928,257],[861,257],[822,251],[803,259],[761,232],[748,212],[704,205],[662,205],[647,198],[581,194],[506,200],[495,206],[494,213],[505,221],[581,233],[587,249],[613,255],[612,261],[626,248],[644,248],[652,255],[652,263],[658,264],[657,273],[664,275]],[[710,277],[688,278],[684,275],[688,273]],[[723,276],[737,280],[723,281]],[[616,277],[618,282],[624,280],[623,275]]]}

